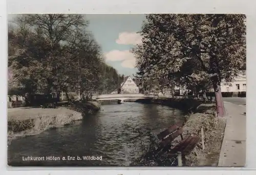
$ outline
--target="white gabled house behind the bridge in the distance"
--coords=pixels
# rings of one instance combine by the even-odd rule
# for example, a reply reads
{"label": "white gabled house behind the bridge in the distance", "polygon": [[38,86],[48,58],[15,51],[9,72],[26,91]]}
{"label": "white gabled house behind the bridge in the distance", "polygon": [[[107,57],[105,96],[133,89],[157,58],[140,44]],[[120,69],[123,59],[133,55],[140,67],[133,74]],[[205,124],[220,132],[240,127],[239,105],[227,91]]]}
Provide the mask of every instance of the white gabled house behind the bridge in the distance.
{"label": "white gabled house behind the bridge in the distance", "polygon": [[[139,87],[130,76],[124,78],[123,82],[120,85],[120,89],[120,93],[139,93]],[[114,90],[111,94],[116,93],[118,93],[117,89]]]}

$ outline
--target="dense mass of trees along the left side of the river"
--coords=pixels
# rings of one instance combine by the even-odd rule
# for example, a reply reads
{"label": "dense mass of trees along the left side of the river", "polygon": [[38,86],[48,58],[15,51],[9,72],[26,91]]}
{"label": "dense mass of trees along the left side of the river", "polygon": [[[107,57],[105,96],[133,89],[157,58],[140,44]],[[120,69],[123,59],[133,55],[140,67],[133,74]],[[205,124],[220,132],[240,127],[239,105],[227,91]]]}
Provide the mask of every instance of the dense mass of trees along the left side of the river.
{"label": "dense mass of trees along the left side of the river", "polygon": [[[29,94],[80,91],[88,95],[104,84],[110,91],[119,74],[105,64],[88,25],[78,14],[18,15],[8,32],[8,67],[17,87]],[[108,74],[106,67],[113,73]],[[113,80],[106,83],[105,79]]]}

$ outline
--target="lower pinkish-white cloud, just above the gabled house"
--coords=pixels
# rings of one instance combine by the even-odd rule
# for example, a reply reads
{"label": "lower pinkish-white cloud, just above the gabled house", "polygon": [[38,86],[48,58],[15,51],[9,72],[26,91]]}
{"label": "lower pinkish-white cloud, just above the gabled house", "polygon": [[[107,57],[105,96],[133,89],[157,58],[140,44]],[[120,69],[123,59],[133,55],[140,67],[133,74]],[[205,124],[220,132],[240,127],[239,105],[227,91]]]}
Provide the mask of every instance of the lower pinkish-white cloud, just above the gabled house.
{"label": "lower pinkish-white cloud, just above the gabled house", "polygon": [[110,51],[105,54],[106,61],[122,61],[121,66],[127,68],[134,68],[136,63],[136,58],[129,50],[125,51]]}

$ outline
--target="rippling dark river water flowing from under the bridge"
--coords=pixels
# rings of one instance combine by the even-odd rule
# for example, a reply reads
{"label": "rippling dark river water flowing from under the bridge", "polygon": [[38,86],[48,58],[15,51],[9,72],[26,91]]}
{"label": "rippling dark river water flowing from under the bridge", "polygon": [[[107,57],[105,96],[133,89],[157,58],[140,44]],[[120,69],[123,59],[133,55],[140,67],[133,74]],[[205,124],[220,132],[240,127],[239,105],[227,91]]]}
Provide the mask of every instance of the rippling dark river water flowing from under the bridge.
{"label": "rippling dark river water flowing from under the bridge", "polygon": [[[99,113],[84,117],[69,127],[13,140],[8,146],[8,165],[129,166],[142,155],[141,145],[148,144],[146,133],[157,135],[183,120],[181,111],[166,106],[128,102],[103,105]],[[44,160],[25,161],[30,156]],[[50,160],[48,156],[60,160]],[[68,161],[68,156],[75,158]],[[77,156],[81,160],[77,160]],[[83,156],[90,156],[86,159],[102,156],[102,160],[83,160]]]}

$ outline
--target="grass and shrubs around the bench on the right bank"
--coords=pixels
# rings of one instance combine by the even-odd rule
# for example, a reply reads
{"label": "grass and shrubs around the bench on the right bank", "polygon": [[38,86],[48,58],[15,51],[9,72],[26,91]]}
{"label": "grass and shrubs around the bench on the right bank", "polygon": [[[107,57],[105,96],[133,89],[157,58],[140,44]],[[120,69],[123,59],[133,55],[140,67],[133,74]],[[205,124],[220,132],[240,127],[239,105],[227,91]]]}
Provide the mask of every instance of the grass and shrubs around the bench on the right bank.
{"label": "grass and shrubs around the bench on the right bank", "polygon": [[[202,142],[186,156],[185,166],[217,166],[221,150],[221,144],[224,136],[226,121],[222,118],[215,117],[215,106],[213,104],[201,104],[195,109],[196,113],[186,116],[186,123],[183,127],[183,137],[188,135],[196,135],[201,137],[201,128],[204,130],[205,149],[202,149]],[[151,154],[152,151],[159,147],[157,136],[149,133],[151,143],[149,145],[142,144],[143,155],[134,160],[131,166],[177,166],[177,159],[169,159],[166,153],[156,157]],[[178,144],[180,137],[177,137],[172,143]]]}

